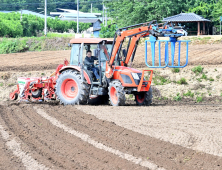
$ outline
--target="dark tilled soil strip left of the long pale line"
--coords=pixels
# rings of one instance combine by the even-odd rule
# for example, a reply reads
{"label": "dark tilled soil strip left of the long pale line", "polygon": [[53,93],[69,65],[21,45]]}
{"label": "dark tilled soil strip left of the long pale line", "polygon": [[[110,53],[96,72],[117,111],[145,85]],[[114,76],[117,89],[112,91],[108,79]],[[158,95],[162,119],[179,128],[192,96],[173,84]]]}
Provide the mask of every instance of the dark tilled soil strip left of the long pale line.
{"label": "dark tilled soil strip left of the long pale line", "polygon": [[[59,169],[142,169],[75,138],[35,113],[31,105],[12,106],[5,120],[33,157]],[[12,112],[14,114],[12,115]],[[16,115],[16,116],[15,116]],[[8,120],[8,121],[7,121]],[[54,168],[53,168],[54,169]]]}

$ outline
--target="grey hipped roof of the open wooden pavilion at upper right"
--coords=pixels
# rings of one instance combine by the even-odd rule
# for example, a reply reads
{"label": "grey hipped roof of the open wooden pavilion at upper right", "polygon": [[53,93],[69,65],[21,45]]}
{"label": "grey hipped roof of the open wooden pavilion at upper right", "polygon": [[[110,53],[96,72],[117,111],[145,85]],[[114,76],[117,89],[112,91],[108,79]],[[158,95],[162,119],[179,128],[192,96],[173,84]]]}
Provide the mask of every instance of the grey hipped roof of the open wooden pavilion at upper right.
{"label": "grey hipped roof of the open wooden pavilion at upper right", "polygon": [[169,22],[199,22],[199,21],[206,21],[210,22],[210,20],[203,18],[200,15],[197,15],[195,13],[181,13],[178,15],[174,15],[171,17],[164,18],[163,21],[169,21]]}

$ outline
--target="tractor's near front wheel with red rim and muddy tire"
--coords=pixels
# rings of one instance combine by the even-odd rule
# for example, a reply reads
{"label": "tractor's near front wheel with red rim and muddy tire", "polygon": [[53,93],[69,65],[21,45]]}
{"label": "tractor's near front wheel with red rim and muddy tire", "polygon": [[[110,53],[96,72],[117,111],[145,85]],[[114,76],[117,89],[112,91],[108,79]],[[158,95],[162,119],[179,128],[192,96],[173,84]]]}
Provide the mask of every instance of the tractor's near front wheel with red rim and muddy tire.
{"label": "tractor's near front wheel with red rim and muddy tire", "polygon": [[[115,95],[113,93],[115,91]],[[126,97],[122,84],[118,80],[109,83],[109,100],[113,106],[124,106]]]}

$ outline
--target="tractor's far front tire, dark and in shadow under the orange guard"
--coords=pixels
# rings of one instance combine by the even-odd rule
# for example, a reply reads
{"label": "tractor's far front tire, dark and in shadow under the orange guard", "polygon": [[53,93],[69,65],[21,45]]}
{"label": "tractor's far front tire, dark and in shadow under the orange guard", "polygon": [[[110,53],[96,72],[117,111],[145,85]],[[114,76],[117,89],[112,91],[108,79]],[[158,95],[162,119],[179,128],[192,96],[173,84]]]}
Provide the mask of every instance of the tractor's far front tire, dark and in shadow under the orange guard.
{"label": "tractor's far front tire, dark and in shadow under the orange guard", "polygon": [[140,92],[135,94],[136,104],[139,106],[149,106],[152,103],[152,88],[147,92]]}

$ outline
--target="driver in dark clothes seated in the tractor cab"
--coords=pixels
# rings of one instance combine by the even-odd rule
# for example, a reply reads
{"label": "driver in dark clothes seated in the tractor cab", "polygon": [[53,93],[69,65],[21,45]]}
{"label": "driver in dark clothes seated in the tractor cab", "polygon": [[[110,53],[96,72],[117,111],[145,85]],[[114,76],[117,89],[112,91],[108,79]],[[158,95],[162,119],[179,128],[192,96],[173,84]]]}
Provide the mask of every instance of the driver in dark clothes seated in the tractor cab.
{"label": "driver in dark clothes seated in the tractor cab", "polygon": [[94,66],[94,61],[98,60],[97,57],[92,56],[92,51],[87,51],[86,53],[86,58],[84,61],[84,65],[87,66],[87,70],[90,70],[94,73],[94,75],[96,76],[96,79],[99,80],[99,69],[97,67]]}

